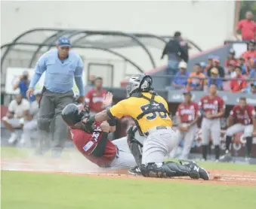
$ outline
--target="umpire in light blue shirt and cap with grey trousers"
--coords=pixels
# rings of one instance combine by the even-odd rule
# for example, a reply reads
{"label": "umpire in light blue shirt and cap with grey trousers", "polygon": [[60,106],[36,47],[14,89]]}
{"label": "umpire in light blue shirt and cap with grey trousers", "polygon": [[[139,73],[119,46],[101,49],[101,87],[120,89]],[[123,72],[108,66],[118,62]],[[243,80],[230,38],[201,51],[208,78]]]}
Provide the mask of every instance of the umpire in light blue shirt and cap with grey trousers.
{"label": "umpire in light blue shirt and cap with grey trousers", "polygon": [[79,102],[84,102],[84,85],[82,82],[83,62],[79,54],[70,50],[68,38],[59,38],[57,49],[44,53],[35,65],[35,73],[27,90],[28,98],[32,96],[36,83],[45,72],[45,86],[39,108],[39,147],[38,154],[43,154],[50,146],[50,126],[53,120],[54,133],[51,145],[52,156],[60,156],[67,136],[67,128],[61,118],[61,111],[73,101],[73,80],[79,88]]}

